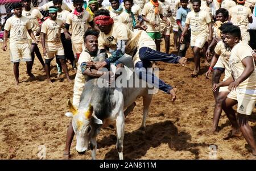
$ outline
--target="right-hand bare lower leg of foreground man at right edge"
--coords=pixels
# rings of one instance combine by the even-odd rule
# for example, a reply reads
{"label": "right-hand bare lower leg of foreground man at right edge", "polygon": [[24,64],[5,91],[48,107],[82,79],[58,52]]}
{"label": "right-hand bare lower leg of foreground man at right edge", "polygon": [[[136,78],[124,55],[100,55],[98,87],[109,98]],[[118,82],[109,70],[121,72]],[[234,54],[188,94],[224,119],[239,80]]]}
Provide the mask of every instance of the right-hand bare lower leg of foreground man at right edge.
{"label": "right-hand bare lower leg of foreground man at right edge", "polygon": [[251,130],[248,123],[248,116],[238,113],[237,118],[243,137],[245,137],[245,140],[250,145],[253,155],[256,156],[256,143],[253,137],[253,130]]}

